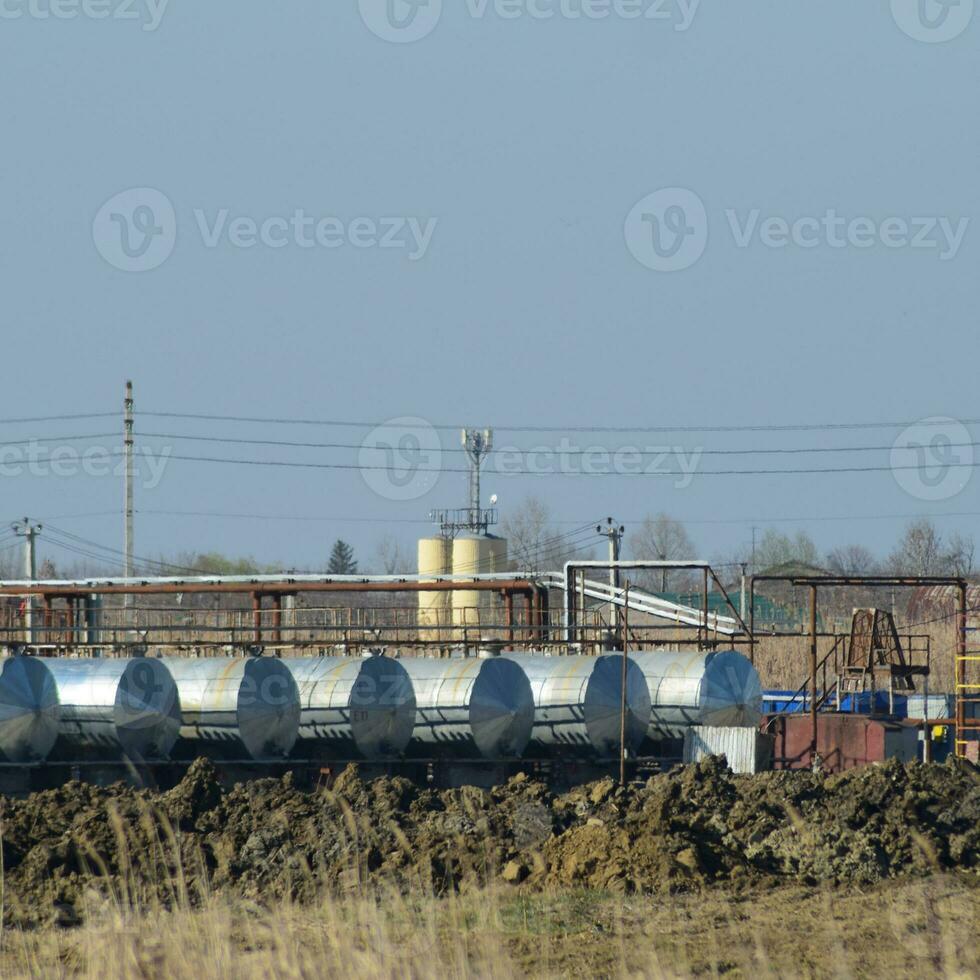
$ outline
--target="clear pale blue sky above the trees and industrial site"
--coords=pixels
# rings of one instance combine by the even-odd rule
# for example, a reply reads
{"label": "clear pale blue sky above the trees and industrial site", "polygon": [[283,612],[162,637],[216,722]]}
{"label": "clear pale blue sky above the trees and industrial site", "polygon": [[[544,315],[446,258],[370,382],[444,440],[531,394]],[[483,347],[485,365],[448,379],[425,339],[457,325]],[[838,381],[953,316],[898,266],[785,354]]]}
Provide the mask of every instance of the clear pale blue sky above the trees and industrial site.
{"label": "clear pale blue sky above the trees and industrial site", "polygon": [[0,518],[112,560],[132,379],[141,556],[412,551],[463,425],[568,531],[980,531],[973,0],[417,4],[0,2]]}

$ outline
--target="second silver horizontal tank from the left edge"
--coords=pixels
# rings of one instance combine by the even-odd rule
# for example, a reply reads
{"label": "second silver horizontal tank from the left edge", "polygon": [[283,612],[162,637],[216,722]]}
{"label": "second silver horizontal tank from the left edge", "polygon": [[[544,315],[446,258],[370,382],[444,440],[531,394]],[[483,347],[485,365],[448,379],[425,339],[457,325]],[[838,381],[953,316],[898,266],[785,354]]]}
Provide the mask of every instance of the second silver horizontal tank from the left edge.
{"label": "second silver horizontal tank from the left edge", "polygon": [[124,758],[166,759],[180,731],[177,685],[160,660],[136,657],[46,661],[58,689],[59,744]]}

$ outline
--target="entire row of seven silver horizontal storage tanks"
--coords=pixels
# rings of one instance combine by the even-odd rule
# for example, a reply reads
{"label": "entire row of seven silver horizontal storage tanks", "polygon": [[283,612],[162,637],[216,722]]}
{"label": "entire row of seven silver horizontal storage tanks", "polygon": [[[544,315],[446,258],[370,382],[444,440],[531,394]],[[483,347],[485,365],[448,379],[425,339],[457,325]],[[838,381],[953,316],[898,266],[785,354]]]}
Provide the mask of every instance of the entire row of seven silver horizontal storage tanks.
{"label": "entire row of seven silver horizontal storage tanks", "polygon": [[[0,661],[0,761],[503,761],[619,754],[621,653],[585,656]],[[735,651],[626,658],[626,744],[692,725],[756,727]]]}

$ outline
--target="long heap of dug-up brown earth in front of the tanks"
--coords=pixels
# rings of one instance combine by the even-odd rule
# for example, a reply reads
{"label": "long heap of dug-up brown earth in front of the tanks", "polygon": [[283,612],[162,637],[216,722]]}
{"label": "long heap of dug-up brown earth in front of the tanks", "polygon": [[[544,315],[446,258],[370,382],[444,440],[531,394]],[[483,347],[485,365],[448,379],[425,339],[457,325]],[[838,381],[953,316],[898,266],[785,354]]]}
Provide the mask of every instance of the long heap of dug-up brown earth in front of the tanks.
{"label": "long heap of dug-up brown earth in front of the tanks", "polygon": [[554,794],[526,775],[489,791],[436,791],[362,781],[350,768],[330,790],[300,790],[286,776],[225,791],[198,760],[165,793],[72,782],[3,800],[2,844],[4,913],[17,925],[78,921],[99,896],[867,884],[980,875],[980,770],[889,762],[735,776],[707,759],[642,785]]}

